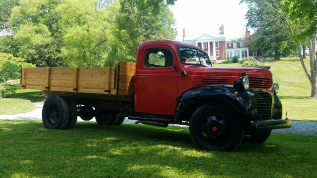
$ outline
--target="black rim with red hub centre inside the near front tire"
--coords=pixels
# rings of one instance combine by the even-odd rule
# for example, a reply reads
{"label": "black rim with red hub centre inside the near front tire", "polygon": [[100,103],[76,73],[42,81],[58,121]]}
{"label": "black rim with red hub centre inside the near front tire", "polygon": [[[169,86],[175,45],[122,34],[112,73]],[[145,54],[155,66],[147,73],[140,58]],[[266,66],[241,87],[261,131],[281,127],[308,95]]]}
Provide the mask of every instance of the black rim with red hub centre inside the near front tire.
{"label": "black rim with red hub centre inside the near front tire", "polygon": [[228,118],[220,114],[211,114],[201,120],[199,132],[202,140],[211,146],[223,146],[232,136],[232,125]]}

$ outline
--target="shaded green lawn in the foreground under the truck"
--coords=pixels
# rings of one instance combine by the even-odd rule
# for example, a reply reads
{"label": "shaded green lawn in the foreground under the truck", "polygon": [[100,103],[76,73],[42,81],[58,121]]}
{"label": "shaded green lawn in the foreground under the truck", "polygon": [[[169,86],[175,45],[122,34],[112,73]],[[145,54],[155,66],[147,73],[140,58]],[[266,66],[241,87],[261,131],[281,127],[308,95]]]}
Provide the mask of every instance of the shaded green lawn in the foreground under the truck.
{"label": "shaded green lawn in the foreground under the truck", "polygon": [[187,128],[144,125],[47,130],[40,121],[0,121],[0,177],[313,178],[317,136],[272,134],[234,152],[194,147]]}

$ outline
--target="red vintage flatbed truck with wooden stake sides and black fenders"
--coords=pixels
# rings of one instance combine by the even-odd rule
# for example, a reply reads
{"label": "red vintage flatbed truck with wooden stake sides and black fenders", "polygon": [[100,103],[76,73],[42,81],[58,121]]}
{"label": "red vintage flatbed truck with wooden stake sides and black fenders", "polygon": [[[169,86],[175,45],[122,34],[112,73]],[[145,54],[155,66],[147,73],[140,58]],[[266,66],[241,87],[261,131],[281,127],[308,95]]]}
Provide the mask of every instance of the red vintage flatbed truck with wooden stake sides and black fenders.
{"label": "red vintage flatbed truck with wooden stake sides and black fenders", "polygon": [[22,68],[21,87],[49,97],[42,118],[47,129],[71,129],[77,116],[100,125],[124,118],[167,127],[189,126],[200,148],[230,151],[242,139],[262,143],[282,119],[278,84],[267,66],[212,67],[196,45],[153,40],[139,45],[136,64],[115,68]]}

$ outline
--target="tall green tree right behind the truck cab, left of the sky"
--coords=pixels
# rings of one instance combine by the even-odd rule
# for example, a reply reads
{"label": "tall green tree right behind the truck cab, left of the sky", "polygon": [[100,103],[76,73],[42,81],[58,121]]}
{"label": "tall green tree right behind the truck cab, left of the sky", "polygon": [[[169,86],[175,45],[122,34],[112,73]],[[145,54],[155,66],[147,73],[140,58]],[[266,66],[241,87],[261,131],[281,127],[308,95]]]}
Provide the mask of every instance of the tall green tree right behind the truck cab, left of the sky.
{"label": "tall green tree right behind the truck cab, left of the sky", "polygon": [[119,0],[108,6],[112,25],[106,65],[113,65],[116,60],[134,62],[143,41],[175,38],[175,20],[165,2],[160,0],[158,6],[143,4],[148,6],[142,10],[138,10],[138,5],[138,0]]}

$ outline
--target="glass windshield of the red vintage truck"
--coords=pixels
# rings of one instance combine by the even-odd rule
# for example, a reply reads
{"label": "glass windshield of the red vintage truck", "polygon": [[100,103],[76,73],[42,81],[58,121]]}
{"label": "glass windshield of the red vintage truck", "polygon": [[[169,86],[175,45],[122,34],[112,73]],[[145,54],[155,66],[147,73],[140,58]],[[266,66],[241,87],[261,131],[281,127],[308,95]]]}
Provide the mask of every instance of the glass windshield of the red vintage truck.
{"label": "glass windshield of the red vintage truck", "polygon": [[178,52],[183,64],[211,67],[209,56],[204,51],[191,47],[179,47]]}

